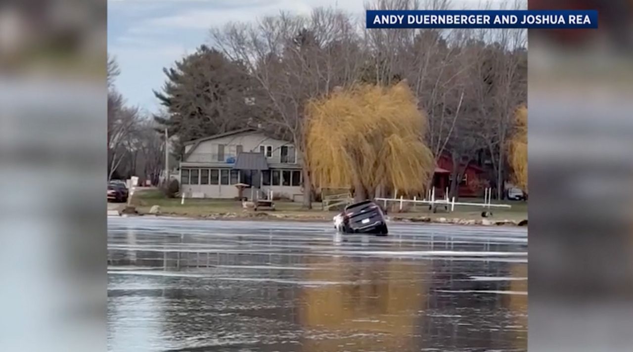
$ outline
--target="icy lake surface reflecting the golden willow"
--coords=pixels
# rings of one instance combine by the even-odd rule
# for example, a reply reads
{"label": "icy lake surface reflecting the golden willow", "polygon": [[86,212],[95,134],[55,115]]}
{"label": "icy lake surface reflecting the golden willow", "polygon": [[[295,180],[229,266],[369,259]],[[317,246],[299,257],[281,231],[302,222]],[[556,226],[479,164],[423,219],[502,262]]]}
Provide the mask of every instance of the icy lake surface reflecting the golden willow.
{"label": "icy lake surface reflecting the golden willow", "polygon": [[110,351],[527,351],[527,229],[108,218]]}

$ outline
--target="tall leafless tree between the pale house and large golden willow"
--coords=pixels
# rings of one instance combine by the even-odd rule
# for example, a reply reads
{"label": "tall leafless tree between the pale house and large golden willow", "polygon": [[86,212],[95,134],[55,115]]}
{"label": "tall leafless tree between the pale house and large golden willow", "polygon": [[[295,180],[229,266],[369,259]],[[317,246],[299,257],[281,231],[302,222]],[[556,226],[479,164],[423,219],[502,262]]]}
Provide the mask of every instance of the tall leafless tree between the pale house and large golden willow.
{"label": "tall leafless tree between the pale house and large golden willow", "polygon": [[[211,30],[212,39],[258,82],[258,120],[290,139],[307,162],[305,106],[360,75],[358,37],[349,16],[315,9],[310,17],[282,13],[254,25],[231,23]],[[311,208],[310,172],[303,168],[304,207]]]}

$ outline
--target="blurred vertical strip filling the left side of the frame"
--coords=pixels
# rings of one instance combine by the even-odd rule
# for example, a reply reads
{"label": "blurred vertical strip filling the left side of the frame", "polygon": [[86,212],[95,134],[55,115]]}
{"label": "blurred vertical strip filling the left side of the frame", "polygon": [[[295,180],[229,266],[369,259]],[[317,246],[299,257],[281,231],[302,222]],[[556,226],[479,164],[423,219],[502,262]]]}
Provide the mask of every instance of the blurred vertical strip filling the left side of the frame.
{"label": "blurred vertical strip filling the left side of the frame", "polygon": [[1,351],[105,351],[106,1],[0,2]]}

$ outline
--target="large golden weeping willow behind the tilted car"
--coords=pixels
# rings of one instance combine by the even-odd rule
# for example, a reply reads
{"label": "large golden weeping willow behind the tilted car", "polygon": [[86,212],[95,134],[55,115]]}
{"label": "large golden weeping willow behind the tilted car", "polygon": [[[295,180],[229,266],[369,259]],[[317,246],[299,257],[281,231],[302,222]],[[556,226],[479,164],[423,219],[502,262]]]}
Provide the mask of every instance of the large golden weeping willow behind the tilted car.
{"label": "large golden weeping willow behind the tilted car", "polygon": [[427,118],[406,81],[356,85],[308,103],[306,149],[316,189],[346,187],[356,200],[377,192],[425,191],[435,160],[425,144]]}

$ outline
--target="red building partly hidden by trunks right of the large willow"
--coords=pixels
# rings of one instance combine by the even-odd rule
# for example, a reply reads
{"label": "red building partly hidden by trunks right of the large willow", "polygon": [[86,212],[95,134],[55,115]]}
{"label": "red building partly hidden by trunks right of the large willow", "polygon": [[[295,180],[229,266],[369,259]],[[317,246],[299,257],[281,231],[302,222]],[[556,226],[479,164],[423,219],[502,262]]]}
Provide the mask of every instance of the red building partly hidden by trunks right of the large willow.
{"label": "red building partly hidden by trunks right of the large willow", "polygon": [[[464,165],[460,165],[464,167]],[[437,167],[433,175],[433,185],[436,187],[436,198],[444,196],[446,187],[451,186],[451,173],[453,170],[453,160],[448,155],[442,155],[437,160]],[[475,165],[475,163],[468,163],[465,168],[463,177],[458,189],[460,197],[480,197],[484,194],[482,184],[484,184],[486,170]]]}

